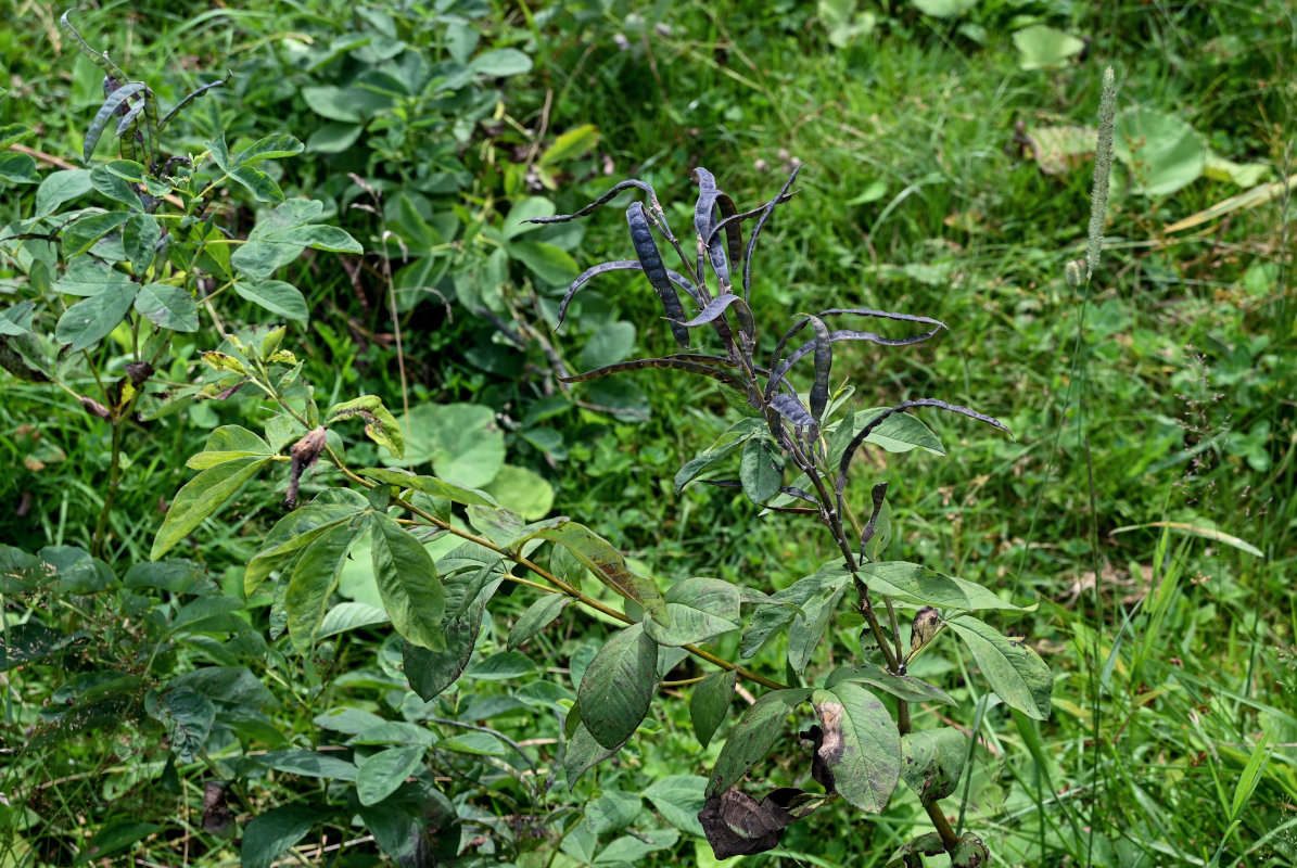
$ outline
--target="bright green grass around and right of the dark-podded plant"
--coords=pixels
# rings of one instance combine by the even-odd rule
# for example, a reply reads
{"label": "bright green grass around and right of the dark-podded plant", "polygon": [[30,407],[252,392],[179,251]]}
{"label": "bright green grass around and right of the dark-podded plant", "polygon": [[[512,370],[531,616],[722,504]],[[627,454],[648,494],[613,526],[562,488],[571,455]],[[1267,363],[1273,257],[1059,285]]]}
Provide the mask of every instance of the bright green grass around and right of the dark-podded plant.
{"label": "bright green grass around and right of the dark-podded plant", "polygon": [[[10,6],[14,14],[39,10],[39,4]],[[895,557],[1040,602],[1013,629],[1027,634],[1058,675],[1053,719],[1014,719],[975,686],[956,693],[966,702],[955,721],[979,736],[965,820],[996,858],[1031,865],[1291,864],[1297,858],[1291,750],[1297,717],[1285,701],[1297,689],[1297,619],[1287,579],[1297,557],[1291,206],[1276,201],[1167,234],[1167,224],[1239,188],[1202,179],[1172,196],[1147,197],[1118,175],[1102,265],[1091,288],[1074,291],[1064,263],[1084,250],[1088,163],[1045,175],[1009,145],[1018,119],[1092,123],[1099,79],[1112,64],[1122,108],[1180,117],[1222,156],[1266,162],[1271,179],[1288,176],[1297,128],[1289,109],[1292,10],[1279,3],[1258,9],[1188,3],[1069,13],[1049,4],[1019,12],[1017,4],[983,3],[970,18],[986,35],[978,44],[955,22],[920,16],[908,4],[890,6],[872,6],[883,22],[879,32],[847,48],[829,44],[805,4],[744,4],[725,14],[681,4],[660,18],[641,10],[647,19],[619,4],[610,12],[573,6],[549,21],[498,8],[488,29],[537,58],[536,71],[507,91],[511,118],[532,127],[549,105],[551,130],[594,123],[613,174],[647,176],[664,200],[685,200],[691,165],[712,169],[738,201],[750,201],[778,187],[786,160],[805,161],[798,197],[770,226],[778,244],[765,249],[755,295],[777,300],[787,314],[868,305],[922,313],[951,327],[917,349],[851,356],[868,372],[853,379],[869,383],[879,406],[934,394],[991,413],[1016,433],[1008,440],[958,419],[925,419],[943,435],[949,458],[907,455],[870,467],[891,483],[901,528]],[[274,66],[276,40],[298,23],[324,21],[341,30],[345,21],[336,9],[309,4],[297,17],[140,13],[128,16],[125,6],[83,13],[95,22],[87,38],[93,27],[113,32],[127,40],[125,57],[157,70],[183,67],[189,56],[228,57],[235,67],[231,93],[243,110],[223,99],[200,102],[195,148],[220,127],[278,128],[284,105],[305,121],[293,88],[268,83],[257,70]],[[1014,14],[1091,36],[1088,57],[1054,71],[1021,70]],[[57,34],[47,17],[29,34],[4,36],[3,54],[22,79],[8,86],[6,114],[26,123],[40,118],[43,131],[27,144],[66,156],[79,145],[74,131],[97,83],[88,65],[77,61],[69,73],[67,54],[52,54],[45,38]],[[619,32],[626,48],[619,47]],[[176,78],[184,87],[198,80],[188,73]],[[327,166],[320,176],[291,180],[322,188]],[[556,193],[559,209],[589,201],[604,184],[599,176],[567,182]],[[9,219],[21,199],[5,199]],[[623,232],[612,217],[595,221],[578,261],[624,249]],[[337,314],[323,320],[348,333],[340,314],[361,311],[346,297],[346,283],[307,272],[301,285],[314,301],[336,304]],[[647,292],[615,287],[604,284],[601,298],[584,304],[654,322]],[[416,333],[440,324],[428,318],[416,311],[405,324]],[[377,317],[370,323],[390,328]],[[665,345],[664,332],[641,333],[641,348]],[[303,340],[315,372],[327,374],[322,389],[354,376],[394,394],[383,350],[339,359],[341,344],[320,333]],[[560,333],[558,344],[568,358],[578,357],[576,336]],[[498,409],[529,398],[459,357],[428,367],[420,388],[429,398],[486,394]],[[671,375],[639,375],[636,384],[651,407],[648,422],[568,410],[550,423],[562,431],[568,459],[550,468],[540,453],[519,446],[551,479],[556,511],[597,524],[664,579],[715,572],[769,589],[812,571],[824,540],[795,536],[778,516],[757,520],[742,507],[735,522],[726,490],[694,487],[671,496],[674,470],[722,427],[709,415],[724,410],[719,393]],[[43,442],[66,458],[6,475],[0,502],[30,492],[34,506],[23,516],[0,518],[0,537],[31,549],[84,545],[104,467],[99,429],[60,410],[47,392],[12,383],[4,389],[6,466],[34,454],[22,427],[36,422]],[[115,558],[144,559],[158,492],[174,487],[175,470],[204,435],[192,420],[140,433],[141,458],[128,468],[131,494],[114,515]],[[267,519],[250,512],[244,524],[209,536],[218,540],[204,550],[209,564],[219,571],[239,563],[248,551],[240,535],[257,533]],[[1219,531],[1266,557],[1156,523]],[[1114,533],[1131,525],[1143,529]],[[581,640],[580,632],[572,636],[547,651],[565,657]],[[357,680],[377,673],[363,658],[359,649],[348,658]],[[362,686],[335,690],[331,701],[363,697],[381,705]],[[700,773],[709,759],[691,742],[687,721],[665,717],[659,725],[660,738],[643,738],[638,756],[620,769],[601,769],[586,791],[642,789],[645,780],[680,772],[681,755],[689,756],[690,773]],[[1268,749],[1258,747],[1263,741]],[[1259,771],[1248,793],[1244,773],[1253,758],[1259,759],[1250,768]],[[69,814],[92,798],[84,781],[49,791],[66,801]],[[837,820],[859,838],[825,845],[816,830],[829,820],[817,819],[794,826],[768,860],[882,864],[913,829],[925,828],[913,799],[875,823],[846,812]],[[677,849],[689,858],[687,842]]]}

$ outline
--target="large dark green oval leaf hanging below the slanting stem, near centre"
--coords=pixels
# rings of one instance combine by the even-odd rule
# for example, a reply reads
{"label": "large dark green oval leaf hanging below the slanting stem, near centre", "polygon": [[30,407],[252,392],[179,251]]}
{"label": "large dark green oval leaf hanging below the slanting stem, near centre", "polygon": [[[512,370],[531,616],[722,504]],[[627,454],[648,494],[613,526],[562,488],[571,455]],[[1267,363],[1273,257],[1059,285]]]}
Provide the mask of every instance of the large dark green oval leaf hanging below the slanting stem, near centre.
{"label": "large dark green oval leaf hanging below the slanting stem, near centre", "polygon": [[581,677],[581,723],[602,746],[617,747],[639,727],[656,690],[658,646],[632,624],[599,649]]}

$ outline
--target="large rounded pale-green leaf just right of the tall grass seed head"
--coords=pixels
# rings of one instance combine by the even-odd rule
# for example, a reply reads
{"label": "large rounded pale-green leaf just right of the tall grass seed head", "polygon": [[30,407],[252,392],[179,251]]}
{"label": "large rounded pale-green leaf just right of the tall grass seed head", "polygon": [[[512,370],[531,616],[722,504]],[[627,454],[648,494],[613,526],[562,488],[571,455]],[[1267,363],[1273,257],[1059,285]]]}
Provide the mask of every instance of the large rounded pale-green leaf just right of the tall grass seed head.
{"label": "large rounded pale-green leaf just right of the tall grass seed head", "polygon": [[1117,115],[1113,154],[1130,170],[1135,189],[1170,196],[1198,179],[1208,148],[1184,121],[1132,105]]}

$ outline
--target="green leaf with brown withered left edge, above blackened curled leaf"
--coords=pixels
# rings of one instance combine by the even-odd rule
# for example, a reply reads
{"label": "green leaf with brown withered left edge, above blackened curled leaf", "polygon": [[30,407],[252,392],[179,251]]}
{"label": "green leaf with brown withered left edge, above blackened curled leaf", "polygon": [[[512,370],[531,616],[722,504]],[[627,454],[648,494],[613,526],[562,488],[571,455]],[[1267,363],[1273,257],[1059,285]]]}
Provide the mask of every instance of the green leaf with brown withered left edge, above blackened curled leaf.
{"label": "green leaf with brown withered left edge, above blackened curled leaf", "polygon": [[900,733],[887,706],[851,681],[816,690],[811,702],[824,729],[817,754],[837,791],[861,811],[879,814],[900,778]]}

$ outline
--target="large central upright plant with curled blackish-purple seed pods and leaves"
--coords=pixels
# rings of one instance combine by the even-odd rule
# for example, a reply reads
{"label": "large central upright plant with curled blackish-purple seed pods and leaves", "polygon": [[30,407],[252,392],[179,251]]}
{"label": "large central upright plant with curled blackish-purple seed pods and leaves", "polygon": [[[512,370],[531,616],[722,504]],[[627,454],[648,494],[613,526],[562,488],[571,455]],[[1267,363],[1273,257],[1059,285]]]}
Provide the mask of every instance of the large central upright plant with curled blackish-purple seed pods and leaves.
{"label": "large central upright plant with curled blackish-purple seed pods and leaves", "polygon": [[[594,276],[615,270],[643,271],[681,352],[611,365],[571,379],[591,380],[621,371],[669,367],[711,378],[733,391],[737,398],[733,404],[743,409],[744,418],[681,468],[676,489],[691,481],[741,488],[754,503],[768,510],[815,518],[827,528],[840,553],[840,558],[822,564],[815,575],[773,596],[715,579],[684,581],[661,599],[656,594],[636,596],[646,615],[625,628],[595,658],[581,684],[581,720],[601,747],[615,751],[630,737],[648,707],[652,690],[647,685],[652,684],[656,659],[654,645],[702,642],[735,629],[744,603],[755,612],[743,629],[741,655],[755,655],[777,632],[787,631],[787,667],[800,681],[821,642],[831,641],[825,640],[829,623],[846,606],[847,593],[852,590],[851,607],[856,620],[864,624],[859,660],[817,679],[816,686],[767,684],[770,690],[730,730],[712,769],[707,803],[699,814],[708,841],[717,858],[763,852],[778,843],[787,825],[826,802],[840,798],[865,814],[877,814],[887,806],[898,782],[905,781],[936,830],[901,847],[888,864],[917,864],[921,854],[942,851],[949,854],[955,865],[982,864],[987,858],[982,841],[973,834],[956,837],[939,807],[939,801],[958,784],[968,754],[964,734],[953,727],[912,729],[910,703],[955,705],[955,701],[940,688],[908,675],[907,668],[938,636],[953,633],[965,641],[992,690],[1006,705],[1035,719],[1049,714],[1049,669],[1021,638],[1006,637],[974,615],[982,610],[1022,611],[1017,606],[977,584],[920,564],[881,559],[891,537],[886,483],[873,487],[872,511],[865,520],[851,507],[844,489],[852,458],[865,442],[892,452],[916,446],[942,452],[931,431],[907,415],[907,410],[936,407],[999,428],[1003,426],[981,413],[935,398],[851,411],[846,409],[850,391],[830,394],[835,344],[868,341],[896,346],[923,341],[944,328],[927,317],[864,307],[802,314],[776,341],[769,361],[764,366],[760,363],[756,319],[750,306],[752,254],[765,222],[790,199],[796,174],[794,170],[779,193],[763,206],[739,211],[734,201],[717,189],[709,171],[694,170],[698,200],[693,259],[672,232],[654,188],[641,180],[615,186],[575,214],[536,221],[571,221],[608,204],[624,189],[643,192],[647,206],[632,202],[626,209],[636,258],[604,262],[585,271],[568,289],[559,315],[562,320],[573,295]],[[747,221],[755,224],[744,247],[742,226]],[[665,267],[658,236],[680,257],[682,272]],[[691,318],[685,313],[681,292],[696,306]],[[883,337],[870,331],[829,326],[853,318],[899,320],[927,328],[908,337]],[[709,332],[720,352],[698,352],[702,335]],[[805,340],[799,341],[799,336]],[[807,367],[798,365],[803,359],[808,359],[811,380],[804,397],[790,380]],[[717,472],[735,453],[739,454],[737,479],[702,479],[704,474]],[[786,481],[786,476],[791,476],[791,481]],[[903,612],[912,612],[908,645],[901,629]],[[840,655],[835,654],[834,659]],[[735,675],[734,669],[722,668],[704,677],[694,690],[691,711],[703,745],[730,705]],[[613,689],[624,684],[641,685],[639,692],[628,697]],[[813,707],[818,723],[802,732],[800,738],[813,750],[811,777],[824,793],[778,788],[757,801],[739,785],[759,769],[778,742],[786,741],[787,717],[805,702]]]}

